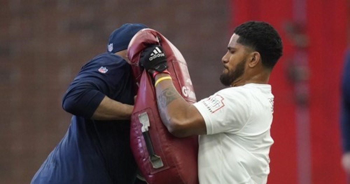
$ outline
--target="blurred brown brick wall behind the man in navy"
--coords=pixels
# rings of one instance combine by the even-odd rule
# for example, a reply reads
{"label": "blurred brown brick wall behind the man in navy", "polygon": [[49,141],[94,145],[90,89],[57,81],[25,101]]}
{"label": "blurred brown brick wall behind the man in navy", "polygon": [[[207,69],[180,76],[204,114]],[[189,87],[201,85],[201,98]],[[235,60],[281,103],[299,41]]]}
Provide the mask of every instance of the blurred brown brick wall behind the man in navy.
{"label": "blurred brown brick wall behind the man in navy", "polygon": [[198,99],[222,86],[225,0],[0,1],[0,183],[29,183],[69,125],[61,98],[126,22],[160,31],[188,62]]}

